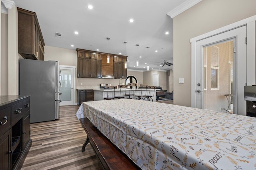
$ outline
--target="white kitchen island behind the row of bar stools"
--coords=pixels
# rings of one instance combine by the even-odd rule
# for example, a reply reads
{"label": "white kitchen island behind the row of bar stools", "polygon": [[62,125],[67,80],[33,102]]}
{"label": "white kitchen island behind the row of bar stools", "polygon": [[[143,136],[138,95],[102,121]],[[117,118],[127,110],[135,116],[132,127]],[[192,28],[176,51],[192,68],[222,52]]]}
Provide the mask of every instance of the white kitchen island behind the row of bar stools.
{"label": "white kitchen island behind the row of bar stools", "polygon": [[[153,102],[156,102],[156,90],[159,89],[146,89],[146,88],[136,88],[136,89],[122,89],[121,93],[120,93],[120,89],[116,89],[115,90],[115,96],[125,96],[125,94],[129,94],[129,90],[130,90],[130,94],[135,94],[135,95],[140,95],[142,93],[142,95],[145,95],[145,93],[148,95],[149,91],[150,91],[150,96],[153,96]],[[141,92],[142,90],[142,92]],[[136,96],[131,96],[132,99],[136,99]],[[94,101],[97,100],[104,100],[104,98],[113,98],[114,97],[114,90],[108,90],[108,89],[94,89]],[[125,98],[128,98],[127,96]],[[145,98],[145,97],[143,97]],[[151,101],[151,100],[150,100]]]}

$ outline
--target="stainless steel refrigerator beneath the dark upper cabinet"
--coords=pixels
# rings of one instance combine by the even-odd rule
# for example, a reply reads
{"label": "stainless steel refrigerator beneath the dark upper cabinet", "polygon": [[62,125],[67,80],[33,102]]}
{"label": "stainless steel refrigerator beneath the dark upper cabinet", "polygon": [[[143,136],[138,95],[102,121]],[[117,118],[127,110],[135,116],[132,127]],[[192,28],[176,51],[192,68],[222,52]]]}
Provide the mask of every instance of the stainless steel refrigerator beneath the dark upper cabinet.
{"label": "stainless steel refrigerator beneath the dark upper cabinet", "polygon": [[30,122],[59,118],[60,69],[58,61],[20,59],[20,95],[30,97]]}

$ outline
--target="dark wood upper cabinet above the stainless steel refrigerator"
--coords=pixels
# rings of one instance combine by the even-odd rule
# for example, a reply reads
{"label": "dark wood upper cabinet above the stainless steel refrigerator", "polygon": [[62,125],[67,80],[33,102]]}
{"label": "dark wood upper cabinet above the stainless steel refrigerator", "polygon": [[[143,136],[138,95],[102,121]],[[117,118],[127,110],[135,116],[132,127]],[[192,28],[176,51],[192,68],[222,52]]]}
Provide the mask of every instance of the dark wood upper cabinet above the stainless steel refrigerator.
{"label": "dark wood upper cabinet above the stainless steel refrigerator", "polygon": [[18,53],[25,59],[44,60],[44,39],[35,12],[18,10]]}

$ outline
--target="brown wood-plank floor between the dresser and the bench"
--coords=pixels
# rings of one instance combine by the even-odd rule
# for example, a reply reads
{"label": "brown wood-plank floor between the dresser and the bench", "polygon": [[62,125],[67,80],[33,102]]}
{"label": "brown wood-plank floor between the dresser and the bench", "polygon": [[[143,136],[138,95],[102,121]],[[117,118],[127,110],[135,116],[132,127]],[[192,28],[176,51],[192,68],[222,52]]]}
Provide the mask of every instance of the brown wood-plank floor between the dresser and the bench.
{"label": "brown wood-plank floor between the dresser and the bench", "polygon": [[81,152],[86,133],[76,117],[78,106],[60,106],[60,119],[31,124],[32,146],[22,170],[101,170],[90,144]]}

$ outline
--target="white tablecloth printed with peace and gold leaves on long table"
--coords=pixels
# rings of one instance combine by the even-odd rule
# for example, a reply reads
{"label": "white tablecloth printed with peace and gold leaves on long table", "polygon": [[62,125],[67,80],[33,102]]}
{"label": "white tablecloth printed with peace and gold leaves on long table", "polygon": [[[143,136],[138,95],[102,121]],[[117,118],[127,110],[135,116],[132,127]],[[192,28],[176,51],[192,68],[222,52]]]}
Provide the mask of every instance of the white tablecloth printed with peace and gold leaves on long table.
{"label": "white tablecloth printed with peace and gold leaves on long table", "polygon": [[255,117],[132,99],[84,102],[76,116],[141,169],[256,169]]}

